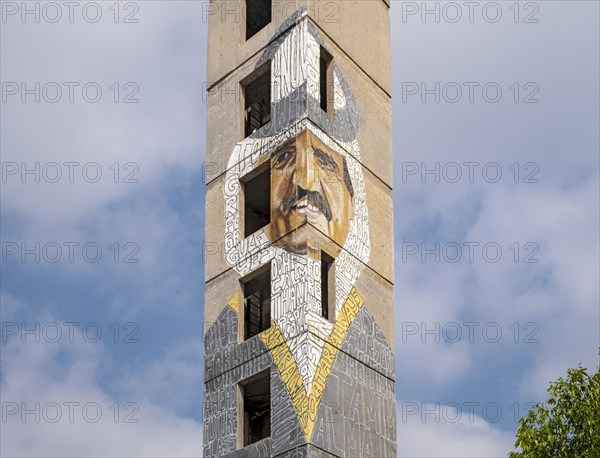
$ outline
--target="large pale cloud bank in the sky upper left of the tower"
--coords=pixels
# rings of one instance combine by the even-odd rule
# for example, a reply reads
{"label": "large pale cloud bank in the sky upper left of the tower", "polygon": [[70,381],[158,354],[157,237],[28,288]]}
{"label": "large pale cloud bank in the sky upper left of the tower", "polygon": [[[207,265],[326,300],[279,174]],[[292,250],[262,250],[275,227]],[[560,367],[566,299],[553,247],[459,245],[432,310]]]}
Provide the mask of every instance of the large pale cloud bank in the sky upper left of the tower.
{"label": "large pale cloud bank in the sky upper left of the tower", "polygon": [[[34,103],[33,96],[21,103],[17,95],[8,96],[2,107],[2,160],[17,164],[19,172],[34,169],[36,163],[42,171],[39,183],[33,175],[26,177],[26,183],[20,173],[8,176],[3,183],[3,209],[16,211],[42,233],[51,228],[68,231],[74,223],[103,213],[107,204],[140,188],[151,189],[169,167],[187,173],[200,169],[203,5],[137,5],[136,24],[115,24],[110,17],[97,24],[82,20],[23,24],[10,17],[3,24],[3,81],[28,88],[54,82],[64,89],[56,103],[44,102],[43,97]],[[112,14],[107,6],[103,8],[105,16]],[[68,101],[65,82],[79,84],[73,103]],[[85,102],[81,95],[90,82],[102,89],[97,103]],[[120,99],[137,88],[139,102],[115,103],[115,82]],[[126,88],[127,83],[135,86]],[[44,180],[44,166],[52,162],[62,171],[57,183]],[[64,162],[78,164],[73,166],[73,183]],[[134,172],[132,167],[124,168],[130,162],[138,167],[132,175],[137,184],[123,183]],[[87,178],[83,170],[94,163],[101,178],[91,183],[88,180],[94,179],[98,167],[88,168]],[[119,164],[118,183],[114,163]],[[46,170],[54,177],[55,167]]]}

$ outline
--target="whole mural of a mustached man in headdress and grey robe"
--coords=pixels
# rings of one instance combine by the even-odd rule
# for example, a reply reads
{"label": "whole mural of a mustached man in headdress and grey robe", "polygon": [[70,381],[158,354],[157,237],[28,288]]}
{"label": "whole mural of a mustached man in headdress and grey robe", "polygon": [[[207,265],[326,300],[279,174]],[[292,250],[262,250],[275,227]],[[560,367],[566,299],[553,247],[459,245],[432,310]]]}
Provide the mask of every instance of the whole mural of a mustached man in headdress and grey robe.
{"label": "whole mural of a mustached man in headdress and grey robe", "polygon": [[[281,26],[256,64],[271,62],[271,121],[229,158],[225,259],[240,278],[270,263],[271,325],[240,343],[243,304],[232,291],[208,329],[205,456],[241,452],[235,452],[236,385],[268,367],[271,437],[239,456],[278,456],[303,444],[338,456],[396,455],[394,356],[355,288],[370,256],[360,115],[335,64],[333,113],[321,110],[321,47],[327,48],[305,9]],[[271,222],[243,237],[240,179],[266,162]],[[331,241],[324,246],[317,239]],[[322,250],[335,258],[330,319],[321,316]],[[303,453],[313,456],[310,450]]]}

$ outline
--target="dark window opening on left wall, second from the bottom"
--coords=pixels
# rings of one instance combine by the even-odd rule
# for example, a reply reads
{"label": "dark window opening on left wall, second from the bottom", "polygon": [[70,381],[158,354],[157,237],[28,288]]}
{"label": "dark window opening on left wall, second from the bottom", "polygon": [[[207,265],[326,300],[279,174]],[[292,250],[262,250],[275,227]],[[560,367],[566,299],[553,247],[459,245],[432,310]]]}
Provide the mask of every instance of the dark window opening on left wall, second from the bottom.
{"label": "dark window opening on left wall, second from the bottom", "polygon": [[271,327],[271,266],[244,282],[244,340]]}

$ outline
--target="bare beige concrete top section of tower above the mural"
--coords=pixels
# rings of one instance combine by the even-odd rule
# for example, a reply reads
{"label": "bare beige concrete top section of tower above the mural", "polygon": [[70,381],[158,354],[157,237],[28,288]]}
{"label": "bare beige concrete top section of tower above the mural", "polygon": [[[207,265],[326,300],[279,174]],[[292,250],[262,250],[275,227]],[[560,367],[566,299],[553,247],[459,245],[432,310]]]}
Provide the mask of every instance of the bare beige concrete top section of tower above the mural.
{"label": "bare beige concrete top section of tower above the mural", "polygon": [[[208,35],[207,81],[237,72],[264,49],[292,13],[307,15],[388,94],[392,93],[389,3],[386,0],[273,0],[272,21],[245,39],[244,0],[212,0],[205,8]],[[377,50],[377,52],[373,52]]]}

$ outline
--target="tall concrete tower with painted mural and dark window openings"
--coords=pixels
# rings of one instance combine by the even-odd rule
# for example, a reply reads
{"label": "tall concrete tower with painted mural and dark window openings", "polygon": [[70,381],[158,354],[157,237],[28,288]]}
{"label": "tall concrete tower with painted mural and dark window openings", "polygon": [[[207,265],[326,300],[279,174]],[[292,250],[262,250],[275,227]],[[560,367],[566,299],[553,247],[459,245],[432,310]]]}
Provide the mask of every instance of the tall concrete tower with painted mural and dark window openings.
{"label": "tall concrete tower with painted mural and dark window openings", "polygon": [[211,0],[204,456],[395,457],[389,0]]}

